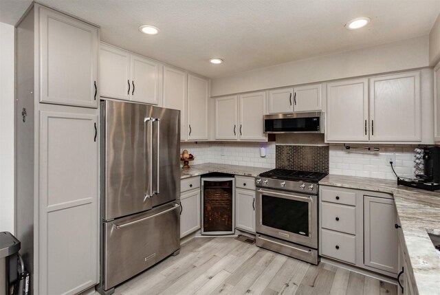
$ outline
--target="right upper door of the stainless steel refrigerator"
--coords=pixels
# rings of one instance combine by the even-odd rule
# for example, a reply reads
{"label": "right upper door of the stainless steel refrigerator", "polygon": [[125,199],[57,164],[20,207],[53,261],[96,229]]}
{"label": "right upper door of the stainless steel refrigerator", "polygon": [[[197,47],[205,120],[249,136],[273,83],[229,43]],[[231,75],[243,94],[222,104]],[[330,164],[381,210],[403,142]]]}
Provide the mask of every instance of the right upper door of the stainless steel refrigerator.
{"label": "right upper door of the stainless steel refrigerator", "polygon": [[153,207],[180,196],[180,111],[148,106],[153,118],[152,177]]}

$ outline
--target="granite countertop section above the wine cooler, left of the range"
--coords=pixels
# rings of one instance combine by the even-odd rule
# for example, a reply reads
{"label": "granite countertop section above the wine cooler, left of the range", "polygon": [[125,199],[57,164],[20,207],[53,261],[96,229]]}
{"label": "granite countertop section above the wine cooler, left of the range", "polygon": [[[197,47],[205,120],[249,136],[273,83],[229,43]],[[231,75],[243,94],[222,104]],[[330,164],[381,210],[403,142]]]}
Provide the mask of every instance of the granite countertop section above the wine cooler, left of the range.
{"label": "granite countertop section above the wine cooler, left of the range", "polygon": [[234,175],[256,177],[260,173],[263,173],[268,170],[270,170],[270,168],[206,163],[206,164],[192,165],[191,168],[181,168],[180,179],[199,176],[210,172],[223,172]]}

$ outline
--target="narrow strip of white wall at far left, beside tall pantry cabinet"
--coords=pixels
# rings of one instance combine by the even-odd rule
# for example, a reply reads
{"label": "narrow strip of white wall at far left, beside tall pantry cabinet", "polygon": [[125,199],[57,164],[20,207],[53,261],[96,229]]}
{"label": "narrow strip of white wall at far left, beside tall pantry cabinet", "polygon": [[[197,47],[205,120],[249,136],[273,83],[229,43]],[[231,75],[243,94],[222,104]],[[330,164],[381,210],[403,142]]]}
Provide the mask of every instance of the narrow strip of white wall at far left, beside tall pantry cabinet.
{"label": "narrow strip of white wall at far left, beside tall pantry cabinet", "polygon": [[14,27],[0,23],[0,231],[14,232]]}

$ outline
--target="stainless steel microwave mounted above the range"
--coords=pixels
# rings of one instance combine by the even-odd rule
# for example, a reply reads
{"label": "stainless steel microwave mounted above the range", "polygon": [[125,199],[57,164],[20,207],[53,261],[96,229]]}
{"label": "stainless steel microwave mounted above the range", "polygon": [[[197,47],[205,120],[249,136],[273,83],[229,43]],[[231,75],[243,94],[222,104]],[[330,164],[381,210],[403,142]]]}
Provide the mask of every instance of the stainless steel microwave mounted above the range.
{"label": "stainless steel microwave mounted above the range", "polygon": [[265,115],[264,133],[324,133],[324,112]]}

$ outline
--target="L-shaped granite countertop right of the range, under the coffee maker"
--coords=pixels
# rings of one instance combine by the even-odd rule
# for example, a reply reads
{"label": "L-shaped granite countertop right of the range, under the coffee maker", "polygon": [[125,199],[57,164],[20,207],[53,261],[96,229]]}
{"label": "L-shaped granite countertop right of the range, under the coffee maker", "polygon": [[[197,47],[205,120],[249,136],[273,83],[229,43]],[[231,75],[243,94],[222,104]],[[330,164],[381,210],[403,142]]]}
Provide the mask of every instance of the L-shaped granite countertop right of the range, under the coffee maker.
{"label": "L-shaped granite countertop right of the range, under the coffee maker", "polygon": [[440,193],[397,186],[393,180],[327,175],[319,184],[390,193],[404,233],[419,294],[440,294],[440,254],[428,232],[440,234]]}

